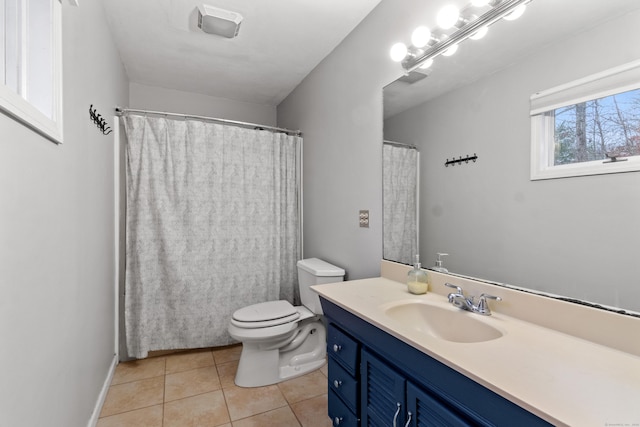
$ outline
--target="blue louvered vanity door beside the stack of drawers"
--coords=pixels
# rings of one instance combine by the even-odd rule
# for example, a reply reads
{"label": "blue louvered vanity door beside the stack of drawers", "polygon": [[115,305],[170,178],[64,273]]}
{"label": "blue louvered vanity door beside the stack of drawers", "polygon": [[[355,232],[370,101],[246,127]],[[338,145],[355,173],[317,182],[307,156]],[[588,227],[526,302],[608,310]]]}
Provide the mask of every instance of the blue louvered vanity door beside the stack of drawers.
{"label": "blue louvered vanity door beside the stack of drawers", "polygon": [[404,426],[407,412],[404,377],[363,350],[360,383],[362,427]]}

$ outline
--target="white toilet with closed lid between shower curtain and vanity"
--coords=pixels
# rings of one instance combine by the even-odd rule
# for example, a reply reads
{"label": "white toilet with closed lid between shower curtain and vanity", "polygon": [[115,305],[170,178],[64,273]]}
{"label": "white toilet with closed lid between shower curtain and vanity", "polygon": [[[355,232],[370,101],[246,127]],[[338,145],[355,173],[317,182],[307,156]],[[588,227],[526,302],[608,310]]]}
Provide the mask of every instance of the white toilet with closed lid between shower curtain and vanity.
{"label": "white toilet with closed lid between shower curtain and vanity", "polygon": [[340,282],[344,270],[318,258],[298,261],[303,306],[269,301],[233,313],[229,334],[242,342],[236,385],[259,387],[306,374],[324,365],[326,329],[311,285]]}

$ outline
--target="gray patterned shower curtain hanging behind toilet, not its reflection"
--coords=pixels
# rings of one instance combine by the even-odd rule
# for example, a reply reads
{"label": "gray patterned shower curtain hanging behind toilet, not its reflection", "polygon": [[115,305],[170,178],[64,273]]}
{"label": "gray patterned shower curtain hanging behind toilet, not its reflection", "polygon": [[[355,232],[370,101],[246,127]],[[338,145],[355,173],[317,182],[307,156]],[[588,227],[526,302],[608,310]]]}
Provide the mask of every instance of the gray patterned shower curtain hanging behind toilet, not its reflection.
{"label": "gray patterned shower curtain hanging behind toilet, not its reflection", "polygon": [[130,357],[226,345],[232,313],[297,299],[301,138],[124,117]]}

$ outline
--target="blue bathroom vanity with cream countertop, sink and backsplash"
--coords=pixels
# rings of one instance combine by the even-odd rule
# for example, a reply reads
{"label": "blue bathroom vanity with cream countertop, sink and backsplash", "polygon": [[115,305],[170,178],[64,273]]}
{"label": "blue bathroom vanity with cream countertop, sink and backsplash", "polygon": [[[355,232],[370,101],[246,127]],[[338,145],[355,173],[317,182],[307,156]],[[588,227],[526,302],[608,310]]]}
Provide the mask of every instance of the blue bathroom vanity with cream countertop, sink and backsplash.
{"label": "blue bathroom vanity with cream countertop, sink and backsplash", "polygon": [[[419,296],[385,277],[314,287],[328,322],[334,426],[640,425],[640,349],[601,342],[637,337],[639,318],[432,277],[437,292]],[[503,301],[491,303],[492,316],[461,311],[445,281]],[[504,313],[523,303],[527,320]],[[558,303],[587,332],[550,327],[549,317],[565,319]],[[576,336],[588,330],[593,340]]]}

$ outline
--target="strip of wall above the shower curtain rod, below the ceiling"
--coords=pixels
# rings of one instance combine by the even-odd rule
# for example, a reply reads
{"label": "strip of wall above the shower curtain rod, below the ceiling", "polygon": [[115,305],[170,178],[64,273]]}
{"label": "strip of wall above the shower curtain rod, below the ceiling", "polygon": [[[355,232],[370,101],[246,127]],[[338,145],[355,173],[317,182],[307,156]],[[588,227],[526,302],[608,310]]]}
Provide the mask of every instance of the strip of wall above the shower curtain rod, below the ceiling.
{"label": "strip of wall above the shower curtain rod, below the ceiling", "polygon": [[276,107],[272,105],[252,104],[133,82],[129,85],[128,106],[143,110],[237,120],[265,126],[276,125]]}

